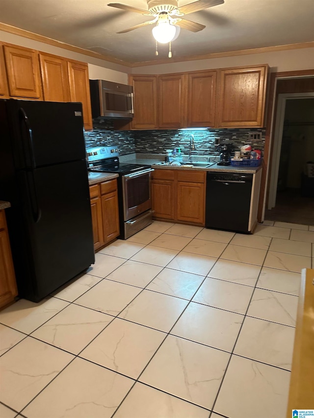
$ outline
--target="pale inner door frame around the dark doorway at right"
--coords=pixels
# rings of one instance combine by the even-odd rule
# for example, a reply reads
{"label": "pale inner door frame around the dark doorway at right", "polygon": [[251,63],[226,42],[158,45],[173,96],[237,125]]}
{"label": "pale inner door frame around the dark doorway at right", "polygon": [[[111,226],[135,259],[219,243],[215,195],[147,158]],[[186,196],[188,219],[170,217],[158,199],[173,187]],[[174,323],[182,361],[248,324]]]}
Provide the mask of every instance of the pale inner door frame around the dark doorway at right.
{"label": "pale inner door frame around the dark doorway at right", "polygon": [[276,124],[273,135],[272,164],[270,168],[269,194],[267,208],[270,210],[275,207],[277,197],[278,172],[280,164],[280,153],[283,139],[284,122],[286,114],[287,100],[297,100],[302,98],[314,98],[314,93],[280,93],[276,112]]}

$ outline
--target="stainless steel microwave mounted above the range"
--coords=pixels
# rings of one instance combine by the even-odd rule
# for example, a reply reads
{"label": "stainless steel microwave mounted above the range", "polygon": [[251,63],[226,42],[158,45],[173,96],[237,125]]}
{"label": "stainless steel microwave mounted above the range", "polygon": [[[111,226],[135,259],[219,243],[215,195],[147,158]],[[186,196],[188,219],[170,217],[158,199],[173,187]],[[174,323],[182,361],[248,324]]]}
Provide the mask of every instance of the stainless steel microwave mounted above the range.
{"label": "stainless steel microwave mounted above the range", "polygon": [[105,80],[89,80],[93,118],[132,118],[133,87]]}

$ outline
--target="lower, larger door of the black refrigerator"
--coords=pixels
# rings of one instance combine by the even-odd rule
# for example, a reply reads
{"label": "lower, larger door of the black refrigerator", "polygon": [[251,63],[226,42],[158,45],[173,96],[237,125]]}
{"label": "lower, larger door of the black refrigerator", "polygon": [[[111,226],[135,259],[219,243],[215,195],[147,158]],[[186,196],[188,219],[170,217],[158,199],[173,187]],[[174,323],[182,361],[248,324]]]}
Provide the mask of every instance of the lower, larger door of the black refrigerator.
{"label": "lower, larger door of the black refrigerator", "polygon": [[22,230],[12,251],[19,295],[37,302],[95,261],[86,162],[22,171],[18,187]]}

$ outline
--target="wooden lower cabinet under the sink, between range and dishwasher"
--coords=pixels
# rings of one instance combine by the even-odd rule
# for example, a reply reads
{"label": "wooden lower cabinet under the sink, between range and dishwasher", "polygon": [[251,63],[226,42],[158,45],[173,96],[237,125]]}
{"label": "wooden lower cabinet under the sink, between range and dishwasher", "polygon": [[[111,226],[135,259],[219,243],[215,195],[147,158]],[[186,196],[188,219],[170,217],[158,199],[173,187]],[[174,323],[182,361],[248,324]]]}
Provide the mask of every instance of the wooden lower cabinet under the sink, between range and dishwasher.
{"label": "wooden lower cabinet under the sink, between range and dishwasher", "polygon": [[155,219],[205,224],[206,172],[155,170],[152,177]]}

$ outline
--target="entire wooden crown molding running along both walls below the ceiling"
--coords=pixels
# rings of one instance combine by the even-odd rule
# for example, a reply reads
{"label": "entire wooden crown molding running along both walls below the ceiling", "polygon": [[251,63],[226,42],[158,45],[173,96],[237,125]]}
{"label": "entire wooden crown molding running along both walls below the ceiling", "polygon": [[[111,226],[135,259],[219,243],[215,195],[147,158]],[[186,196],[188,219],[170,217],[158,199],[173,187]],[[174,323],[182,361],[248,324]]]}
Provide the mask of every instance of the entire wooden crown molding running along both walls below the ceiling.
{"label": "entire wooden crown molding running along both walls below the ceiling", "polygon": [[289,45],[278,45],[275,47],[264,47],[264,48],[254,48],[254,49],[240,49],[236,51],[226,51],[226,52],[215,52],[210,54],[203,54],[203,55],[193,55],[193,56],[185,56],[185,57],[178,57],[178,58],[165,58],[165,59],[158,59],[152,61],[139,61],[139,62],[128,62],[123,61],[118,58],[114,58],[109,55],[100,54],[98,52],[93,52],[88,49],[83,49],[79,47],[75,47],[74,45],[66,44],[61,41],[56,41],[55,39],[47,38],[43,35],[38,35],[37,33],[29,32],[25,29],[20,29],[19,27],[6,25],[4,23],[0,23],[0,30],[4,32],[9,32],[14,35],[23,36],[24,38],[32,39],[34,41],[43,42],[44,44],[52,45],[54,47],[67,49],[69,51],[78,52],[83,55],[88,55],[93,58],[98,58],[104,61],[109,61],[114,64],[124,65],[125,67],[135,68],[135,67],[145,67],[148,65],[159,65],[159,64],[170,64],[175,62],[185,62],[185,61],[195,61],[201,59],[212,59],[212,58],[223,58],[223,57],[230,57],[236,55],[249,55],[249,54],[260,54],[260,53],[267,53],[267,52],[277,52],[277,51],[285,51],[288,49],[302,49],[302,48],[314,48],[314,41],[312,42],[303,42],[299,44],[289,44]]}

